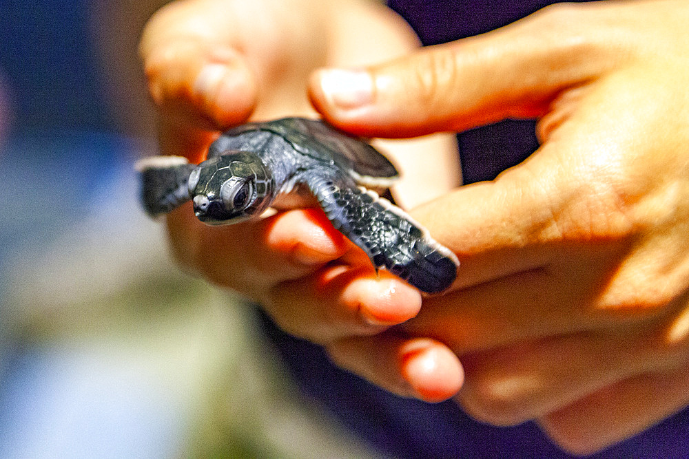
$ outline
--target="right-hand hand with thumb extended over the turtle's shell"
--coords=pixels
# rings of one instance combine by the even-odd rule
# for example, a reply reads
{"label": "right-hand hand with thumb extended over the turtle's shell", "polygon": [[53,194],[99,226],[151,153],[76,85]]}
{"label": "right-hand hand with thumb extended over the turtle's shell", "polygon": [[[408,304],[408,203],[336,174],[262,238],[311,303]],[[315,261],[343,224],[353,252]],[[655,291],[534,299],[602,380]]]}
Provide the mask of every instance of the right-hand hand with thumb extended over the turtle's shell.
{"label": "right-hand hand with thumb extended over the turtle's shell", "polygon": [[[460,356],[456,400],[475,418],[535,419],[590,453],[688,405],[687,23],[682,0],[561,4],[313,76],[318,111],[365,136],[539,119],[526,162],[412,212],[462,265],[402,330]],[[329,350],[394,389],[379,370],[405,343],[393,330]]]}

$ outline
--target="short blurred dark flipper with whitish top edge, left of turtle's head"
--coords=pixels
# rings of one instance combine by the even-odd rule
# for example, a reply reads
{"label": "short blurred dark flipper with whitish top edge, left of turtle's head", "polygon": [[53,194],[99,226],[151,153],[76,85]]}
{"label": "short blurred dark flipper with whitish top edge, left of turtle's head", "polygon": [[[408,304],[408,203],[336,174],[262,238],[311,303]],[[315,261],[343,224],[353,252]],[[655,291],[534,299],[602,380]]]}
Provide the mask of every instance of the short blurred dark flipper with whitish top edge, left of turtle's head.
{"label": "short blurred dark flipper with whitish top edge, left of turtle's head", "polygon": [[141,180],[141,204],[156,217],[181,206],[189,197],[189,173],[196,166],[181,156],[152,156],[136,163]]}

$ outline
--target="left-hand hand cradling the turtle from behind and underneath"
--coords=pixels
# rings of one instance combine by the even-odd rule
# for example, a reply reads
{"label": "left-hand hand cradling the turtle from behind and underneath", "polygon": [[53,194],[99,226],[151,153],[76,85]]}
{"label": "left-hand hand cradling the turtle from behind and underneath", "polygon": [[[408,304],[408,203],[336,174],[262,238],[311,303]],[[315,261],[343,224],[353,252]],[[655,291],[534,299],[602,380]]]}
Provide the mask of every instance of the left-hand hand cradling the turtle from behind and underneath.
{"label": "left-hand hand cradling the turtle from behind and underneath", "polygon": [[[161,152],[199,162],[220,131],[241,122],[318,116],[307,97],[318,67],[367,65],[416,47],[409,26],[378,2],[187,0],[152,16],[139,51]],[[396,190],[402,204],[427,201],[460,180],[453,136],[380,144],[403,175],[413,171]],[[167,216],[167,228],[183,268],[258,301],[281,328],[316,343],[376,334],[421,306],[418,290],[376,275],[320,209],[206,226],[183,206]],[[379,370],[399,394],[440,401],[462,384],[446,345],[425,337],[386,345],[387,356],[397,354]]]}

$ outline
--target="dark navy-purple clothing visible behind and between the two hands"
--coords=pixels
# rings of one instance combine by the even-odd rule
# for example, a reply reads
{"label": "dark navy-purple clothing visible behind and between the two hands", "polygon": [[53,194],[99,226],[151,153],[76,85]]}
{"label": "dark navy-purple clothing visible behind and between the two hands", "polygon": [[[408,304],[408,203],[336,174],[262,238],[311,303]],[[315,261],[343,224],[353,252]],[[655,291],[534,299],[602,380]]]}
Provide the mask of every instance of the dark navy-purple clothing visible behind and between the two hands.
{"label": "dark navy-purple clothing visible behind and between the two hands", "polygon": [[[548,0],[391,0],[424,45],[488,32],[535,12]],[[508,120],[458,136],[466,183],[491,180],[538,146],[535,122]],[[302,391],[383,453],[404,458],[568,457],[534,423],[492,427],[449,401],[435,405],[398,398],[339,370],[322,350],[287,336],[265,319],[267,335]],[[689,455],[689,410],[684,410],[599,458],[680,458]]]}

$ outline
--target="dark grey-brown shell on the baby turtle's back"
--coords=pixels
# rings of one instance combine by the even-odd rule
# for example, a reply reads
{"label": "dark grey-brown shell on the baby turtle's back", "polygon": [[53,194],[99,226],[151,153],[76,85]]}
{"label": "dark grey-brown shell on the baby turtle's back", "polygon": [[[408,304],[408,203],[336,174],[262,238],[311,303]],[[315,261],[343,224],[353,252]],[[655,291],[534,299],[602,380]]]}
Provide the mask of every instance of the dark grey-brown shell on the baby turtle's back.
{"label": "dark grey-brown shell on the baby turtle's back", "polygon": [[[280,136],[290,145],[294,153],[320,162],[327,162],[349,173],[357,182],[382,180],[393,182],[399,177],[395,166],[367,142],[327,125],[321,120],[307,118],[281,118],[267,122],[249,122],[226,131],[208,151],[209,158],[223,154],[228,149],[238,149],[236,140],[245,139],[245,148],[260,150],[260,135],[247,134],[265,132]],[[223,141],[227,139],[227,142]],[[242,142],[244,143],[244,142]],[[256,143],[256,145],[253,145]],[[252,148],[254,147],[254,148]]]}

